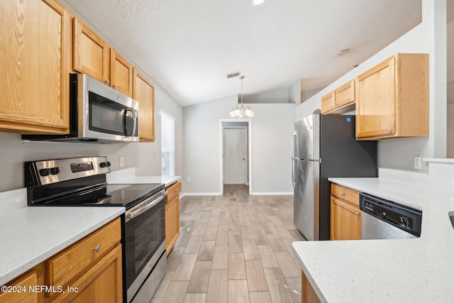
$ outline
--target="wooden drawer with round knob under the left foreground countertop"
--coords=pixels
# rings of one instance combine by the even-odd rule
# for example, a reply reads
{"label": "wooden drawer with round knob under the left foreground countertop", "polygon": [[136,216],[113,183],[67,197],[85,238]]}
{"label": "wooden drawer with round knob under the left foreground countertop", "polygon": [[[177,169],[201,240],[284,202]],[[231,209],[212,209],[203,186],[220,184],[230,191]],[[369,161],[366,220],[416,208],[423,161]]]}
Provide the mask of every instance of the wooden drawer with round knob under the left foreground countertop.
{"label": "wooden drawer with round knob under the left foreground countertop", "polygon": [[92,267],[120,243],[120,240],[121,225],[120,218],[117,218],[47,260],[48,285],[65,288],[68,282]]}

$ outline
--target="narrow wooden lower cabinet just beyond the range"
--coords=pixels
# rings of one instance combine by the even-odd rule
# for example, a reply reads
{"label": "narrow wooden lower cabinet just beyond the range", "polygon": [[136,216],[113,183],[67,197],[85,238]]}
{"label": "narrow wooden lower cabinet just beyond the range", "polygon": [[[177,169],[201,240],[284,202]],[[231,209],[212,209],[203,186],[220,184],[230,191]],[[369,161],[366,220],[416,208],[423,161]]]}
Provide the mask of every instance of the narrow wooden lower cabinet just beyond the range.
{"label": "narrow wooden lower cabinet just beyond the range", "polygon": [[167,255],[172,250],[179,236],[179,192],[182,191],[182,182],[167,187],[165,198],[165,249]]}

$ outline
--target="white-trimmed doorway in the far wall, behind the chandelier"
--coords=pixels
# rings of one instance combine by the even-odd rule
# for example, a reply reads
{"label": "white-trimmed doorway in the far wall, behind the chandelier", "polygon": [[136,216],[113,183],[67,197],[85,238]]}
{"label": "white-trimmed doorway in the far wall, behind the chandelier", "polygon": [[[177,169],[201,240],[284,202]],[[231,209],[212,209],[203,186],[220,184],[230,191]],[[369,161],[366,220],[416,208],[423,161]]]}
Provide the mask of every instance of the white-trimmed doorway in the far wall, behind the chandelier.
{"label": "white-trimmed doorway in the far wall, behind the chandelier", "polygon": [[250,119],[225,119],[221,128],[221,193],[224,184],[248,185],[252,192]]}

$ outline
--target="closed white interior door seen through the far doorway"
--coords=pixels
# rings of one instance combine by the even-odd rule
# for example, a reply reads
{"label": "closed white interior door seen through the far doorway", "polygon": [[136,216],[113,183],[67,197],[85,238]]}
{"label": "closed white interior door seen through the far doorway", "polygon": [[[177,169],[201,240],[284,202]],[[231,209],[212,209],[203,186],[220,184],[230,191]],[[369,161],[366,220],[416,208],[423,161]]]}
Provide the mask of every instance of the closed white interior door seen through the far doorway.
{"label": "closed white interior door seen through the far doorway", "polygon": [[224,128],[224,184],[246,184],[246,129]]}

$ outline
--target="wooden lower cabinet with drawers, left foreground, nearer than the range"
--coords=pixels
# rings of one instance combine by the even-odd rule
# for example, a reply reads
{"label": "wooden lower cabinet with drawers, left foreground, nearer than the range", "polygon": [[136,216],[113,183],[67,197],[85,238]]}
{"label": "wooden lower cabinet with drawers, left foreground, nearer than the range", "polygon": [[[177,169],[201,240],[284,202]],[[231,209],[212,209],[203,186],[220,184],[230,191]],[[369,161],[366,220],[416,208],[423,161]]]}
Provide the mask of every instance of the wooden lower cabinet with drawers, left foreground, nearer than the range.
{"label": "wooden lower cabinet with drawers, left foreground, nearer than the range", "polygon": [[[11,286],[26,292],[0,293],[0,302],[122,302],[121,221],[114,219],[35,266]],[[30,291],[28,285],[47,289]]]}

